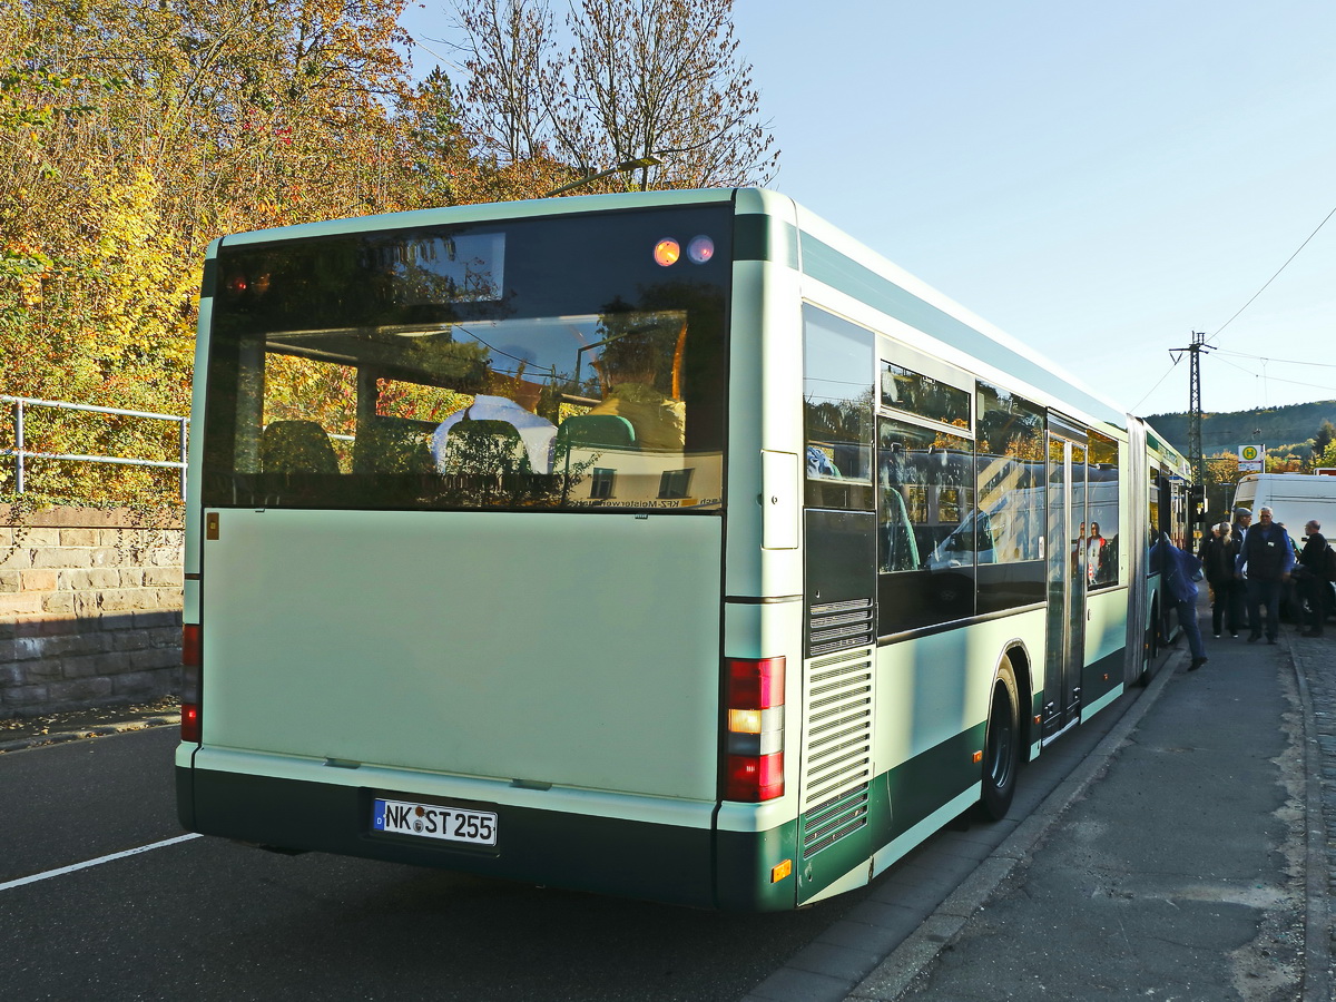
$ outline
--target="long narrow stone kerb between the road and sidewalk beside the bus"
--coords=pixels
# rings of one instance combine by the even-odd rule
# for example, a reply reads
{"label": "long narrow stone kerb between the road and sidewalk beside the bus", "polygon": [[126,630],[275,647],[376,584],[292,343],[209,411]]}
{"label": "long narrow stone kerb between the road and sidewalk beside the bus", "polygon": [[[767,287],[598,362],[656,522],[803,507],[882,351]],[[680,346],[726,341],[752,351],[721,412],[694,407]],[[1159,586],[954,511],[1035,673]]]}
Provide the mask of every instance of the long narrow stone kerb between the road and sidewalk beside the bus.
{"label": "long narrow stone kerb between the road and sidewalk beside the bus", "polygon": [[[1188,660],[1185,651],[1174,651],[1128,712],[1090,751],[1071,774],[1041,803],[1006,840],[985,859],[919,927],[910,934],[871,974],[846,995],[851,1002],[895,1002],[912,981],[933,962],[997,891],[1017,863],[1026,859],[1034,847],[1061,820],[1075,800],[1085,796],[1090,784],[1105,771],[1128,736],[1160,699],[1169,679]],[[1307,997],[1305,997],[1307,999]]]}

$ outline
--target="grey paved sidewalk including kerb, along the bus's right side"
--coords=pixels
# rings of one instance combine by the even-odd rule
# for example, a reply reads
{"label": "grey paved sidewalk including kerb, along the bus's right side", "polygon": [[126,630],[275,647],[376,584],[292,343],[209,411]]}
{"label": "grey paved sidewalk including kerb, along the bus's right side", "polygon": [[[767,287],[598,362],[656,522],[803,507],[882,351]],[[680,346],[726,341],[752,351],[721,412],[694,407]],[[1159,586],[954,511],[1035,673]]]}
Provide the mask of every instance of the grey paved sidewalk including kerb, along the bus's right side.
{"label": "grey paved sidewalk including kerb, along the bus's right side", "polygon": [[1022,824],[850,999],[1332,997],[1336,632],[1271,647],[1202,620],[1206,665],[1176,653],[1092,754],[1098,782]]}

